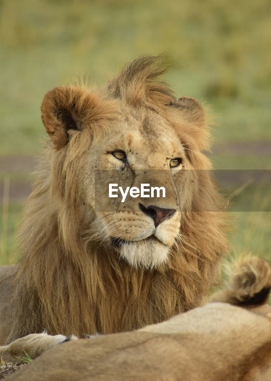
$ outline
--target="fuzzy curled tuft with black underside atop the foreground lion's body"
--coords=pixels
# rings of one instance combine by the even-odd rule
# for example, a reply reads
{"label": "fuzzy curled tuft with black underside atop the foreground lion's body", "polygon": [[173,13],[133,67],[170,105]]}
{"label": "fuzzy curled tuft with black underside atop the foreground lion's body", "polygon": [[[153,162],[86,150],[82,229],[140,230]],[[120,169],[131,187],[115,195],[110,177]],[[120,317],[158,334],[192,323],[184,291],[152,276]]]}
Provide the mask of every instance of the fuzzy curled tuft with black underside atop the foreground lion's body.
{"label": "fuzzy curled tuft with black underside atop the foreground lion's body", "polygon": [[213,294],[210,301],[239,306],[264,304],[271,289],[271,268],[265,259],[245,256],[226,266],[226,288]]}

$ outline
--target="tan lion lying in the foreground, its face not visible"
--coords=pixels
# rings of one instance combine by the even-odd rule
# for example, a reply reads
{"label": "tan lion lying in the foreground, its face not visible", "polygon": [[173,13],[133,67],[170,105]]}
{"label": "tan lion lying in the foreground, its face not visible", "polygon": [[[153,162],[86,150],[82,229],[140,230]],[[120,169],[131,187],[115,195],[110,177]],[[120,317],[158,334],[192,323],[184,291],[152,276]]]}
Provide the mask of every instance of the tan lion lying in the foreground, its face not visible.
{"label": "tan lion lying in the foreground, its face not visible", "polygon": [[[10,380],[269,381],[270,266],[245,256],[228,270],[211,303],[137,331],[57,345]],[[10,354],[22,352],[22,340]]]}

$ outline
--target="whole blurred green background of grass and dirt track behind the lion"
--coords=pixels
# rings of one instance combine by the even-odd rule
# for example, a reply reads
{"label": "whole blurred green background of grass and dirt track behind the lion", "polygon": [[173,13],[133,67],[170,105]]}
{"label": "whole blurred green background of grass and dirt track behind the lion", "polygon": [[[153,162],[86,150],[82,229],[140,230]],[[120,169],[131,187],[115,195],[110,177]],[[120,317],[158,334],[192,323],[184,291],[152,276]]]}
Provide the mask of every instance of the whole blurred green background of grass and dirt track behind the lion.
{"label": "whole blurred green background of grass and dirt track behind the lion", "polygon": [[[43,96],[71,77],[101,83],[139,54],[166,52],[176,95],[211,106],[215,168],[271,169],[268,0],[0,0],[0,35],[0,264],[14,261],[14,229],[45,138]],[[230,253],[271,257],[270,190],[252,182],[233,191],[257,211],[231,212]]]}

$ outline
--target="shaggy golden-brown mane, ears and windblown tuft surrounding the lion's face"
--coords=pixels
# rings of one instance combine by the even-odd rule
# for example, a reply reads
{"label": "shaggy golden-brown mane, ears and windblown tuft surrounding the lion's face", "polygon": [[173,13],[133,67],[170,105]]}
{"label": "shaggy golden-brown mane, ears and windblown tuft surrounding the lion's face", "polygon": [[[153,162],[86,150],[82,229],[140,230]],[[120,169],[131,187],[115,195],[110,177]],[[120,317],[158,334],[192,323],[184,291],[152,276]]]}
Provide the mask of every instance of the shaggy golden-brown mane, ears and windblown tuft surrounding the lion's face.
{"label": "shaggy golden-brown mane, ears and windblown tuft surrounding the lion's face", "polygon": [[[209,146],[202,109],[189,98],[175,99],[159,80],[166,71],[161,62],[138,58],[95,92],[60,87],[45,96],[43,122],[51,140],[19,232],[9,342],[45,329],[67,336],[133,330],[204,304],[219,282],[227,227],[209,171],[198,171],[201,187],[189,190],[190,205],[166,265],[135,269],[109,248],[83,239],[94,215],[83,205],[82,163],[95,137],[114,124],[121,104],[163,113],[183,136],[194,169],[211,167],[201,152]],[[63,106],[61,117],[55,104],[58,110]]]}

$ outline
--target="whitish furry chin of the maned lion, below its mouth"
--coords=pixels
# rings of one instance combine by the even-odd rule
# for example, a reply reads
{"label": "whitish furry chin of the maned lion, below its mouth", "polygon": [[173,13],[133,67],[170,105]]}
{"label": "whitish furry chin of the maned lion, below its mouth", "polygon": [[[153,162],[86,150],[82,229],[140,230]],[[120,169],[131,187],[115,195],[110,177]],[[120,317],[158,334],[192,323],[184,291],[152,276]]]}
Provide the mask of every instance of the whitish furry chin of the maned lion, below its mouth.
{"label": "whitish furry chin of the maned lion, below its mouth", "polygon": [[153,269],[167,262],[170,248],[154,240],[124,243],[120,249],[120,256],[135,268]]}

